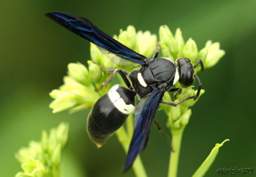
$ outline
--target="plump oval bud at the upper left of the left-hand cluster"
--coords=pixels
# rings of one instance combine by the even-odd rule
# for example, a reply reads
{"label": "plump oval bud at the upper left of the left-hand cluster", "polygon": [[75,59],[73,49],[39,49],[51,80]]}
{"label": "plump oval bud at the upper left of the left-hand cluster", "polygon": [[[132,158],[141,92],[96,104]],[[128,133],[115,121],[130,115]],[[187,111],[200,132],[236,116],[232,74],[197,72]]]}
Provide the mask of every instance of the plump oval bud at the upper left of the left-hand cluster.
{"label": "plump oval bud at the upper left of the left-hand cluster", "polygon": [[68,64],[68,75],[83,85],[89,85],[91,83],[87,68],[79,62]]}

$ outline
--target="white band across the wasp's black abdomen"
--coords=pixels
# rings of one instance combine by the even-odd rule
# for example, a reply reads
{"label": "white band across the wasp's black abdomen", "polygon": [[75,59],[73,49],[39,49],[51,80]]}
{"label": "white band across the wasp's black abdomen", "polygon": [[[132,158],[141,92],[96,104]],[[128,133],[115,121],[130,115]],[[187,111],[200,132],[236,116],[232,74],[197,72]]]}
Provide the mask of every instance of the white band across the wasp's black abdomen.
{"label": "white band across the wasp's black abdomen", "polygon": [[108,97],[117,110],[119,110],[121,113],[124,113],[125,115],[131,115],[131,113],[133,113],[133,111],[135,110],[135,107],[132,104],[125,104],[124,99],[122,99],[118,92],[116,92],[118,87],[119,85],[114,85],[108,91]]}

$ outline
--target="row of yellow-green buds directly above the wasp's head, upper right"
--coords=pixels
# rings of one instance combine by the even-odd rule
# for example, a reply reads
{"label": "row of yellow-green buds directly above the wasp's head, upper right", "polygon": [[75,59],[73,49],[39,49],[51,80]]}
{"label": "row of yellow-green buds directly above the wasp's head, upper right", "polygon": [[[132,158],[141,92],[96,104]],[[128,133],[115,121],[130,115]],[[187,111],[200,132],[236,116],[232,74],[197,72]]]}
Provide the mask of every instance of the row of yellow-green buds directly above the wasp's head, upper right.
{"label": "row of yellow-green buds directly above the wasp's head, upper right", "polygon": [[214,66],[225,55],[225,51],[220,50],[220,43],[212,43],[212,41],[207,41],[205,47],[198,51],[193,39],[189,38],[184,43],[180,29],[178,28],[173,36],[166,25],[159,29],[159,45],[164,57],[173,60],[188,58],[194,64],[197,59],[201,59],[205,68]]}

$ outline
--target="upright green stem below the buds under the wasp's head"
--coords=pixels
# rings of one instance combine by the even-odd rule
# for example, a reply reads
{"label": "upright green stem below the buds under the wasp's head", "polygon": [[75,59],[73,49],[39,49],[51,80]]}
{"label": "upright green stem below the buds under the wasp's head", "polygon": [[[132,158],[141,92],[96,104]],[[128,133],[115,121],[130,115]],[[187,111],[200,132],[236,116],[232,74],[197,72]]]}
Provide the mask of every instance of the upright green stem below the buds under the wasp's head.
{"label": "upright green stem below the buds under the wasp's head", "polygon": [[170,154],[168,177],[176,177],[179,166],[180,144],[184,129],[172,134],[173,152]]}

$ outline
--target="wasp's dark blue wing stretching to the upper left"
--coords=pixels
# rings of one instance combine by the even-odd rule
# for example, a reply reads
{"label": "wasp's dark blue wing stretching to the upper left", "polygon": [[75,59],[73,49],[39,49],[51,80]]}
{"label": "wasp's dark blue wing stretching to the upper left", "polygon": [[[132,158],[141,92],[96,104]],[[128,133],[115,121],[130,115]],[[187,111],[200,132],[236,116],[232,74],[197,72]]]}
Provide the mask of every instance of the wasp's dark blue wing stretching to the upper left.
{"label": "wasp's dark blue wing stretching to the upper left", "polygon": [[51,12],[45,13],[45,15],[67,28],[69,31],[74,32],[78,36],[81,36],[98,46],[106,48],[106,50],[111,53],[115,53],[124,59],[131,60],[138,64],[145,64],[147,57],[134,52],[127,46],[122,45],[122,43],[108,36],[108,34],[100,31],[86,18],[76,17],[75,15],[65,12]]}

